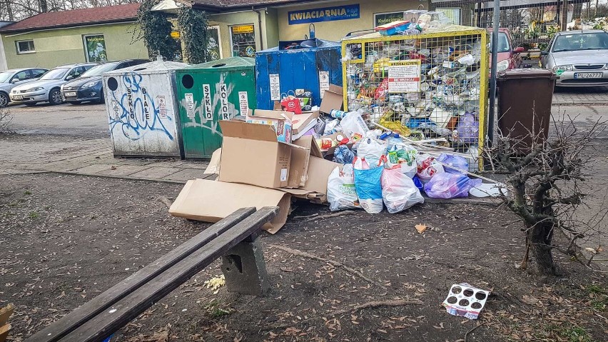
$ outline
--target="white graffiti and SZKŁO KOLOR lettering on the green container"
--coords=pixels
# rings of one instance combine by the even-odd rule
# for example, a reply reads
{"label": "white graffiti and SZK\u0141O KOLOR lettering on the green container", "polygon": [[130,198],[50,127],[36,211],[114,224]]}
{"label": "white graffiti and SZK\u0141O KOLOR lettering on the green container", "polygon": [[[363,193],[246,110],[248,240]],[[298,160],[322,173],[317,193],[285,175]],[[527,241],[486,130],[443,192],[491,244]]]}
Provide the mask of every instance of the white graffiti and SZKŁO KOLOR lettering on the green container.
{"label": "white graffiti and SZK\u0141O KOLOR lettering on the green container", "polygon": [[[208,129],[212,134],[219,134],[219,120],[230,120],[240,108],[236,108],[234,104],[228,102],[230,94],[234,91],[234,84],[226,84],[226,76],[221,75],[220,81],[217,84],[202,84],[202,99],[195,99],[193,104],[194,115],[183,118],[184,127],[200,127]],[[211,87],[215,86],[215,91],[211,91]],[[188,109],[188,101],[181,99],[180,106]],[[192,106],[190,104],[190,106]],[[215,111],[218,111],[216,114]],[[245,115],[246,113],[240,113]],[[214,119],[215,118],[215,119]]]}

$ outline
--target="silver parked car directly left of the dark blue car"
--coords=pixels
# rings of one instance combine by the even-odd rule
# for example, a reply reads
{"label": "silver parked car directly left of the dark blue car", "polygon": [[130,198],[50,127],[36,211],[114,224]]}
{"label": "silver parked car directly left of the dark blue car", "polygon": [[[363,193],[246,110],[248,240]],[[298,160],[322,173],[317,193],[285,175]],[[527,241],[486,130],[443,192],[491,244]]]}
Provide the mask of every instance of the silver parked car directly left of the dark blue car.
{"label": "silver parked car directly left of the dark blue car", "polygon": [[16,104],[34,106],[38,102],[49,101],[50,104],[61,104],[61,85],[77,79],[84,71],[96,66],[95,63],[66,64],[51,69],[38,81],[16,86],[11,91],[11,101]]}

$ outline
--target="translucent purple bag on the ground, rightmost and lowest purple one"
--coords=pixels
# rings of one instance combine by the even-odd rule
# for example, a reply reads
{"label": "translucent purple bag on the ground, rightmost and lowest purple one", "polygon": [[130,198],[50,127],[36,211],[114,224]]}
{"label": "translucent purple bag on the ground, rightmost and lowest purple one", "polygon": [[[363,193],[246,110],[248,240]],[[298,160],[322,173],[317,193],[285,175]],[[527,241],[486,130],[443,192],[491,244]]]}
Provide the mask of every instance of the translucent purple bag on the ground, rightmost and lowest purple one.
{"label": "translucent purple bag on the ground, rightmost and lowest purple one", "polygon": [[463,174],[437,173],[425,184],[425,193],[430,198],[467,197],[469,190],[481,183],[481,179],[471,179]]}

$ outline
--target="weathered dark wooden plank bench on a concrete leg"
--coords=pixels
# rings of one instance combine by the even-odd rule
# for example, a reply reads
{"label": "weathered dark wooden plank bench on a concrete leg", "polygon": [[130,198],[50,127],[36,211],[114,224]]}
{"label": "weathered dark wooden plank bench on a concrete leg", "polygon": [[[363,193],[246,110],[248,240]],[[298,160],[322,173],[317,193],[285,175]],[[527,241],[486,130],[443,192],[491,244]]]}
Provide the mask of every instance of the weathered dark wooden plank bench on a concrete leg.
{"label": "weathered dark wooden plank bench on a concrete leg", "polygon": [[26,341],[103,341],[220,257],[228,291],[262,294],[270,285],[258,235],[277,213],[235,211]]}

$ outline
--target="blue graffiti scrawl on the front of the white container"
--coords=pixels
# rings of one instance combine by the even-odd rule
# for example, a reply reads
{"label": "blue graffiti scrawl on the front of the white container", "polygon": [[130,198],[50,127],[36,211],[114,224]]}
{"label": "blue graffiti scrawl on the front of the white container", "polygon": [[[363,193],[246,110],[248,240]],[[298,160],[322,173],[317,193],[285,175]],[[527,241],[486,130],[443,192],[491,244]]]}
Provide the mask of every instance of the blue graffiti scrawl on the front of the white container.
{"label": "blue graffiti scrawl on the front of the white container", "polygon": [[142,86],[143,77],[136,72],[130,72],[121,79],[124,92],[112,92],[111,131],[118,127],[131,140],[141,139],[148,132],[157,131],[173,140],[173,134],[161,120],[173,120],[167,113],[165,96],[156,96],[155,101],[148,89]]}

